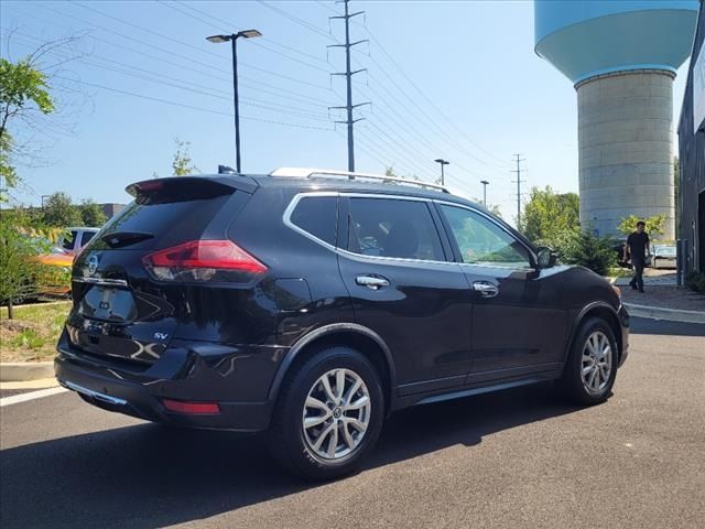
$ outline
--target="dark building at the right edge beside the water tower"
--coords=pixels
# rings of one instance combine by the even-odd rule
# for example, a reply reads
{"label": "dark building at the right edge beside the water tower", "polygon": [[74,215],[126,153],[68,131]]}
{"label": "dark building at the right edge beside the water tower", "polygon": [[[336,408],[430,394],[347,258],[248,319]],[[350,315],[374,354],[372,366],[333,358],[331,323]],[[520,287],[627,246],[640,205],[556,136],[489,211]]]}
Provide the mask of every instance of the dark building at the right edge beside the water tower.
{"label": "dark building at the right edge beside the water tower", "polygon": [[679,239],[686,270],[705,272],[705,3],[701,0],[691,68],[679,121]]}

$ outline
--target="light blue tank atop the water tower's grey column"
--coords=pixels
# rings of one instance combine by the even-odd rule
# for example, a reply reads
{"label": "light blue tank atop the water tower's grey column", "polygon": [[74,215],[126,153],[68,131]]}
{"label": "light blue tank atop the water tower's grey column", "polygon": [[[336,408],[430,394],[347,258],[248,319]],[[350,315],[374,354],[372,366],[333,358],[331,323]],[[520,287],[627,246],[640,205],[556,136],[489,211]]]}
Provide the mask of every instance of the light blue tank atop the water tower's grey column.
{"label": "light blue tank atop the water tower's grey column", "polygon": [[536,53],[573,83],[599,74],[675,72],[693,46],[698,0],[534,0]]}

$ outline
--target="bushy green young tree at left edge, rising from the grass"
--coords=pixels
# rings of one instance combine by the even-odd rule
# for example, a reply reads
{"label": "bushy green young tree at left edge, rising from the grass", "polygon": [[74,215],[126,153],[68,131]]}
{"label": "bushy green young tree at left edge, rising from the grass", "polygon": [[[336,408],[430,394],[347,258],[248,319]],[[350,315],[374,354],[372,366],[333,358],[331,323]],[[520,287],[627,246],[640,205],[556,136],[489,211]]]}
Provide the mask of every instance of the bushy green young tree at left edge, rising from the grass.
{"label": "bushy green young tree at left edge, rising from the grass", "polygon": [[8,305],[8,319],[14,316],[12,306],[34,291],[39,271],[36,256],[43,248],[23,233],[19,216],[3,212],[0,222],[0,302]]}

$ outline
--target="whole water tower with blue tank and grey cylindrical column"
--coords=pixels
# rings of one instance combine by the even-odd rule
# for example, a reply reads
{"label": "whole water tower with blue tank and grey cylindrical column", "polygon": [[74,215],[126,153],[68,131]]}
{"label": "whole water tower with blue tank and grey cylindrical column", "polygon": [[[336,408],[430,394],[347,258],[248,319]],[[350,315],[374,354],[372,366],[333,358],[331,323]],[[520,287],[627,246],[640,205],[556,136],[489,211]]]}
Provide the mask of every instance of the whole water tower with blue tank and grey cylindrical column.
{"label": "whole water tower with blue tank and grey cylindrical column", "polygon": [[673,79],[698,0],[534,0],[535,52],[575,86],[581,224],[665,214],[675,237]]}

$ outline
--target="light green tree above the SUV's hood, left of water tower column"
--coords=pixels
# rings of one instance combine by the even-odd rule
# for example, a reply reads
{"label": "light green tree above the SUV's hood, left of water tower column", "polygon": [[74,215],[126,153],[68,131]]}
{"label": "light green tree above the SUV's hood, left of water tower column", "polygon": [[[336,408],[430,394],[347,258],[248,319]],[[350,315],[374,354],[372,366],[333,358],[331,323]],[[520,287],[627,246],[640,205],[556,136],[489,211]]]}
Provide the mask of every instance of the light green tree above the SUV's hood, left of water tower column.
{"label": "light green tree above the SUV's hood, left of water tower column", "polygon": [[535,242],[554,246],[579,226],[579,199],[575,193],[556,194],[551,186],[533,187],[522,215],[522,231]]}

